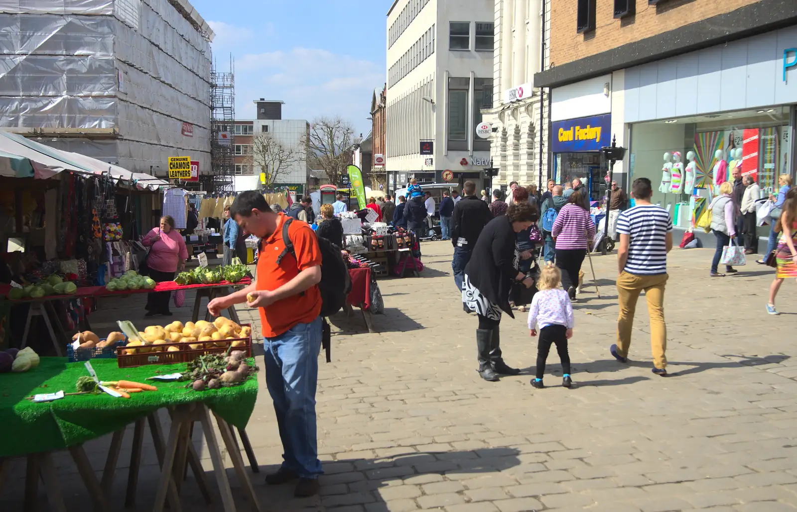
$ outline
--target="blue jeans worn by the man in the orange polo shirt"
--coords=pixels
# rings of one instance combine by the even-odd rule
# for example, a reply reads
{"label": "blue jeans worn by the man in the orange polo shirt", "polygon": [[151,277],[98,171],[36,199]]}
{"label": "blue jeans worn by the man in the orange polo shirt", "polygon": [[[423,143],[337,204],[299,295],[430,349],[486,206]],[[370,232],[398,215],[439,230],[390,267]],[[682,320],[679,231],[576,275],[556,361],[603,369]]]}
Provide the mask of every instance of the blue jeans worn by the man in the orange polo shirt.
{"label": "blue jeans worn by the man in the orange polo shirt", "polygon": [[265,385],[274,401],[282,440],[282,467],[304,479],[324,471],[318,460],[316,384],[321,317],[263,339]]}

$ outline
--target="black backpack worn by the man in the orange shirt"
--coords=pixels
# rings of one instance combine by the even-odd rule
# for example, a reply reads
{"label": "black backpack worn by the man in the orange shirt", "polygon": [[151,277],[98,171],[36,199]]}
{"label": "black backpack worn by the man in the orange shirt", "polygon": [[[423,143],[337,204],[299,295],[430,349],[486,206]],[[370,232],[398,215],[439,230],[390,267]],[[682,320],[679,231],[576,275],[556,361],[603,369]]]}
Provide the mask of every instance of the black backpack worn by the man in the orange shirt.
{"label": "black backpack worn by the man in the orange shirt", "polygon": [[[288,229],[293,219],[285,219],[282,225],[282,241],[285,249],[280,256],[277,256],[277,264],[280,264],[286,254],[292,254],[296,258],[293,250],[293,242],[288,236]],[[318,290],[321,292],[321,316],[327,317],[335,315],[346,305],[346,298],[351,291],[351,277],[344,257],[340,255],[340,247],[332,244],[322,236],[316,236],[318,246],[321,251],[321,280],[318,283]],[[324,330],[321,344],[327,352],[327,362],[331,362],[330,341],[332,333],[327,321],[324,319]]]}

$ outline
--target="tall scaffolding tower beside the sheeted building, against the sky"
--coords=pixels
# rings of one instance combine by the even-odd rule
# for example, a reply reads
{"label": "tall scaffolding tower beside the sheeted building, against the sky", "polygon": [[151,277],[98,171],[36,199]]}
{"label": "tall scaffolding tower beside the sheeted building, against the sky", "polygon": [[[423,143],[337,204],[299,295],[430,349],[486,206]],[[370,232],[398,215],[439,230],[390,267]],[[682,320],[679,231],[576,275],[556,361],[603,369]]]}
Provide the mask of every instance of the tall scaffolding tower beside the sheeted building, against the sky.
{"label": "tall scaffolding tower beside the sheeted building, against the sky", "polygon": [[235,174],[235,61],[230,55],[230,71],[220,72],[216,61],[210,68],[210,169],[203,176],[203,189],[209,193],[233,192]]}

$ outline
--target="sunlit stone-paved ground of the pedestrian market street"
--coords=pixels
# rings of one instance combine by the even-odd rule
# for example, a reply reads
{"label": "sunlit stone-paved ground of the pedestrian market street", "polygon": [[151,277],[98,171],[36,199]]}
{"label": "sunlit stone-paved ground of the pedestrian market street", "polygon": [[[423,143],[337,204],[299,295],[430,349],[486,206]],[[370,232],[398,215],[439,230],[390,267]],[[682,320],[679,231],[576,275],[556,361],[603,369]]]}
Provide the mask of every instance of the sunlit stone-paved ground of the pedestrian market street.
{"label": "sunlit stone-paved ground of the pedestrian market street", "polygon": [[[422,251],[421,278],[379,281],[387,309],[374,318],[378,334],[367,334],[356,310],[351,319],[333,319],[332,363],[321,356],[317,395],[325,471],[319,497],[298,500],[289,485],[264,485],[262,475],[277,467],[281,446],[262,388],[247,432],[261,464],[253,483],[265,510],[797,510],[795,283],[783,284],[783,315],[770,317],[764,311],[770,269],[751,261],[736,276],[712,279],[713,251],[674,249],[665,298],[672,376],[662,378],[650,373],[644,296],[633,360],[621,365],[609,354],[618,310],[616,257],[593,256],[601,299],[589,287],[587,260],[570,342],[577,387],[559,386],[558,357],[551,354],[549,387],[533,389],[528,381],[536,343],[528,336],[526,314],[505,315],[501,322],[505,358],[523,373],[481,381],[473,340],[477,319],[461,311],[450,276],[451,246],[429,242]],[[104,304],[96,330],[140,306]],[[175,319],[190,315],[183,310]],[[253,311],[241,315],[256,319]],[[107,445],[108,439],[87,444],[98,471]],[[206,450],[199,443],[197,448],[209,469]],[[148,510],[155,494],[151,450],[145,463],[134,510]],[[114,492],[119,505],[124,466]],[[57,459],[57,467],[65,482],[74,483],[65,485],[69,510],[85,506],[88,498],[69,459]],[[17,485],[6,493],[10,498],[0,498],[0,509],[22,509],[24,465],[14,475]],[[220,510],[218,498],[215,505],[202,502],[191,479],[183,494],[186,509]]]}

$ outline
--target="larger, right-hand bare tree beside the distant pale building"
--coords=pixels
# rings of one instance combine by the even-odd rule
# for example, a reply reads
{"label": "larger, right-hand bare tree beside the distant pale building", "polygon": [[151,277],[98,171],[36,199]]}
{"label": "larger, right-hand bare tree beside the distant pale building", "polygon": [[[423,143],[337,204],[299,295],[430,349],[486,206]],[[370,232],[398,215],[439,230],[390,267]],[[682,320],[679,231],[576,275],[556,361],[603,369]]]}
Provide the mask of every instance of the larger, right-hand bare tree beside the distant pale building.
{"label": "larger, right-hand bare tree beside the distant pale building", "polygon": [[[354,128],[341,119],[320,117],[310,125],[310,163],[327,172],[329,182],[340,184],[340,177],[351,163],[351,145],[354,143]],[[317,168],[316,167],[316,168]]]}

